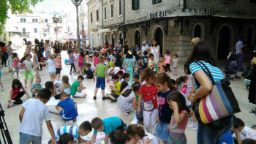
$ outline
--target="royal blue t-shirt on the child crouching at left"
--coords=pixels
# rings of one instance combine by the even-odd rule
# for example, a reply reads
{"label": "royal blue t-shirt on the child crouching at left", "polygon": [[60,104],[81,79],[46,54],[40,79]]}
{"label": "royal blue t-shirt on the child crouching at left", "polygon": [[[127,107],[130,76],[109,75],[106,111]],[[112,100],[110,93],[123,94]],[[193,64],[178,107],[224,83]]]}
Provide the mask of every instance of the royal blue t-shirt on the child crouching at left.
{"label": "royal blue t-shirt on the child crouching at left", "polygon": [[75,109],[75,102],[73,99],[67,98],[61,100],[57,106],[63,108],[66,118],[76,118],[78,116],[78,110]]}

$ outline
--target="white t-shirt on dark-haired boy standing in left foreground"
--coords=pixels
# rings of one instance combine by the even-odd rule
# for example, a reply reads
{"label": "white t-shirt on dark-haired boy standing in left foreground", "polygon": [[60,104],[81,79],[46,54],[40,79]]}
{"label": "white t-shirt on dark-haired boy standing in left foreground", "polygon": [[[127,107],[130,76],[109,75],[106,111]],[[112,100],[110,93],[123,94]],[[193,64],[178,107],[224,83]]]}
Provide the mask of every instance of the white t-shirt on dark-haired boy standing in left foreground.
{"label": "white t-shirt on dark-haired boy standing in left foreground", "polygon": [[48,108],[39,99],[28,99],[22,106],[25,112],[18,131],[42,137],[42,121],[50,121]]}

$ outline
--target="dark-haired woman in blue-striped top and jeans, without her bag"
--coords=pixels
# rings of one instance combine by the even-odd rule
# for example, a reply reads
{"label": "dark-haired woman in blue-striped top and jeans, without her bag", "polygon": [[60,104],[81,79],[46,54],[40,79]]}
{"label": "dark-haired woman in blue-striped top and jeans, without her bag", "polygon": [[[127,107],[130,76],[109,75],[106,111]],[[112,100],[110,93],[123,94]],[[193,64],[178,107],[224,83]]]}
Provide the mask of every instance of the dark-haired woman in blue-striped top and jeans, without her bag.
{"label": "dark-haired woman in blue-striped top and jeans, without her bag", "polygon": [[[208,42],[200,41],[192,49],[186,64],[185,72],[187,74],[192,74],[195,80],[198,83],[195,83],[196,92],[191,96],[191,103],[195,105],[197,99],[201,99],[207,94],[210,93],[212,84],[210,78],[203,71],[205,68],[201,68],[197,61],[203,62],[206,67],[210,70],[211,75],[214,77],[214,80],[221,80],[224,78],[222,71],[216,67],[214,57],[211,53],[211,48]],[[197,86],[197,84],[199,86]],[[227,116],[225,118],[220,118],[217,121],[212,121],[209,124],[199,124],[197,129],[197,144],[208,143],[215,144],[219,143],[222,139],[222,136],[229,132],[233,124],[233,116]]]}

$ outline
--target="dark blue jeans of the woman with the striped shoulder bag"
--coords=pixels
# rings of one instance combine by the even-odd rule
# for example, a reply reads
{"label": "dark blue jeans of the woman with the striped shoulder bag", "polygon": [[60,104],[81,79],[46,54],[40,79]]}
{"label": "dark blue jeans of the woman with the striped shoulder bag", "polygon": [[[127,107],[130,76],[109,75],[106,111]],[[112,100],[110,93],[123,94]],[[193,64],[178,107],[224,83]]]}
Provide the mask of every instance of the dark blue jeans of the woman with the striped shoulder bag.
{"label": "dark blue jeans of the woman with the striped shoulder bag", "polygon": [[[219,126],[220,121],[213,121],[211,122],[212,126]],[[198,124],[197,129],[197,144],[216,144],[222,140],[222,137],[227,132],[230,132],[230,129],[233,126],[233,116],[231,116],[230,121],[227,125],[222,128],[221,130],[217,130],[208,126],[206,124]]]}

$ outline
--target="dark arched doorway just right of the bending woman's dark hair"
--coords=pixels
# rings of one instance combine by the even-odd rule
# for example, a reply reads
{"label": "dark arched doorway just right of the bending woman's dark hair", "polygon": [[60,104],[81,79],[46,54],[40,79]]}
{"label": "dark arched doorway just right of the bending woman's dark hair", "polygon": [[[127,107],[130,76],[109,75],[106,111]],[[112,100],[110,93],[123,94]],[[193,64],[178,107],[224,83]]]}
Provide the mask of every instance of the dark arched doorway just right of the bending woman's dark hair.
{"label": "dark arched doorway just right of the bending woman's dark hair", "polygon": [[219,30],[218,40],[218,60],[227,58],[230,51],[230,29],[228,26],[222,26]]}

